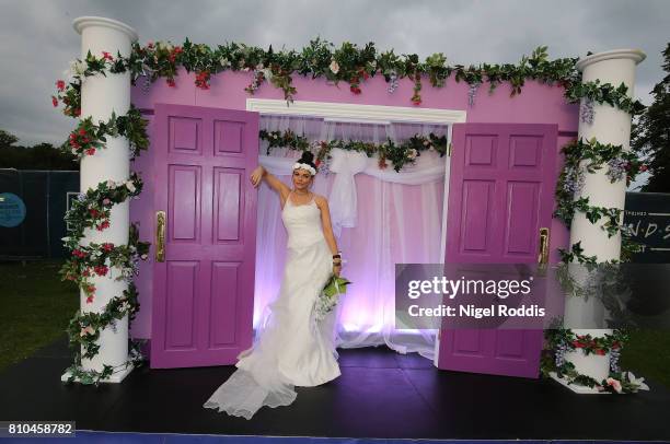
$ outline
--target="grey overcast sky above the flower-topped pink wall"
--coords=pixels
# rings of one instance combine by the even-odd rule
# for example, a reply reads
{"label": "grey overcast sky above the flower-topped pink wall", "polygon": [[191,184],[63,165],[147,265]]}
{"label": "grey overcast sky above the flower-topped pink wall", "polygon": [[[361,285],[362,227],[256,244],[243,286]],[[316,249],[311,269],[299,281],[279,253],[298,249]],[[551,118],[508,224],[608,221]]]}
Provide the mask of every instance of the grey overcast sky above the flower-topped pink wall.
{"label": "grey overcast sky above the flower-topped pink wall", "polygon": [[0,128],[20,143],[61,143],[73,126],[51,106],[54,82],[80,54],[72,20],[100,15],[132,26],[140,42],[188,37],[209,45],[241,42],[300,49],[317,35],[378,50],[444,52],[448,62],[517,62],[540,45],[550,57],[639,48],[636,95],[662,78],[660,52],[670,40],[670,1],[603,0],[0,0],[2,60]]}

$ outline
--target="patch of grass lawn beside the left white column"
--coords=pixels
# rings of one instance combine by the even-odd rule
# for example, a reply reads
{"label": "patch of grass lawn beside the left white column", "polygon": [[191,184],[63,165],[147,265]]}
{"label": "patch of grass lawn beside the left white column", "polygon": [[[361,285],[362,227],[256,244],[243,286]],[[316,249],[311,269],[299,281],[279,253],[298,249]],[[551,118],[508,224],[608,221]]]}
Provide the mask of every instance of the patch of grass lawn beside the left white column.
{"label": "patch of grass lawn beside the left white column", "polygon": [[79,308],[79,289],[61,282],[62,260],[0,262],[0,370],[65,332]]}

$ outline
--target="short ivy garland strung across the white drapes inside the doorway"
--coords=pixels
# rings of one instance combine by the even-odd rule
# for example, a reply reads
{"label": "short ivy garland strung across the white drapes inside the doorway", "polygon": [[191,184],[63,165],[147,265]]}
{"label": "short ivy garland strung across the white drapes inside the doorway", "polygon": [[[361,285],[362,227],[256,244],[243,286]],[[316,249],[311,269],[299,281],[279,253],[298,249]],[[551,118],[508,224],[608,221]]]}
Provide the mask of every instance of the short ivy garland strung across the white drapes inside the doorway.
{"label": "short ivy garland strung across the white drapes inside the doorway", "polygon": [[322,162],[328,162],[331,151],[335,148],[345,151],[356,151],[365,153],[368,157],[378,155],[379,167],[388,166],[386,160],[393,163],[393,170],[400,172],[405,165],[414,164],[416,159],[421,155],[421,151],[435,150],[440,154],[440,157],[447,154],[447,136],[428,136],[415,135],[402,143],[395,143],[391,139],[381,144],[373,142],[365,142],[357,140],[332,140],[332,141],[314,141],[310,142],[304,136],[299,136],[290,129],[286,131],[266,131],[258,132],[261,140],[268,142],[266,154],[269,155],[274,148],[288,148],[297,151],[314,151],[316,152],[316,166]]}

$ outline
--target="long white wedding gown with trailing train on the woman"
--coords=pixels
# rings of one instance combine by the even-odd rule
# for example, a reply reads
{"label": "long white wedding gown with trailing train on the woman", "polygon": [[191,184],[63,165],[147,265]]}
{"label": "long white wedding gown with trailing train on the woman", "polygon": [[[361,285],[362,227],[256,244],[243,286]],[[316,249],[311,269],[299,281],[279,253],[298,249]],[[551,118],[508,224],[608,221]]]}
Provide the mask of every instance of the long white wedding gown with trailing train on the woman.
{"label": "long white wedding gown with trailing train on the woman", "polygon": [[263,406],[288,406],[296,386],[311,387],[340,375],[334,341],[335,311],[314,318],[314,303],[331,277],[333,257],[314,199],[281,210],[288,232],[287,261],[279,295],[254,346],[238,355],[238,370],[203,407],[251,419]]}

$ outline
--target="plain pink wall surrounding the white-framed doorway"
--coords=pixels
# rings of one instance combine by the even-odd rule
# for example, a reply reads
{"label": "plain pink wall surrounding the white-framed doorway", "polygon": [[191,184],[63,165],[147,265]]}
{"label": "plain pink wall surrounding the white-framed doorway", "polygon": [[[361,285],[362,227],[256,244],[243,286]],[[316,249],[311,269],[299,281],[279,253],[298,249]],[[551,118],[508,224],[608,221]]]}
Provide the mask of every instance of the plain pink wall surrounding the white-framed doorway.
{"label": "plain pink wall surrounding the white-framed doorway", "polygon": [[[172,103],[180,105],[197,105],[220,107],[229,109],[246,109],[249,95],[244,87],[251,82],[251,72],[230,72],[213,75],[211,87],[200,90],[195,86],[195,74],[180,71],[176,87],[170,87],[164,80],[151,85],[148,92],[142,91],[141,79],[132,89],[131,100],[135,106],[147,110],[146,117],[152,120],[152,109],[155,103]],[[416,107],[409,101],[413,94],[413,82],[404,79],[400,82],[393,94],[386,92],[388,84],[383,77],[369,79],[362,85],[362,94],[355,95],[349,91],[347,83],[339,87],[326,84],[325,80],[311,80],[294,77],[293,84],[298,89],[294,95],[297,101],[335,102],[361,105],[388,105]],[[473,106],[467,104],[466,83],[457,83],[449,79],[442,89],[430,86],[428,79],[424,79],[421,90],[421,108],[463,109],[467,113],[469,122],[519,122],[519,124],[557,124],[559,150],[571,138],[577,136],[578,105],[568,105],[563,97],[563,89],[548,86],[535,81],[528,81],[521,95],[510,97],[508,84],[499,85],[493,94],[488,94],[488,83],[482,84],[477,91]],[[272,84],[263,84],[253,97],[284,98],[282,91]],[[149,137],[152,135],[152,124],[149,125]],[[145,188],[140,199],[130,205],[130,220],[140,223],[140,238],[153,243],[153,188],[154,178],[151,171],[151,148],[135,162],[134,171],[142,173]],[[562,165],[557,165],[558,175]],[[554,220],[552,224],[552,261],[558,260],[557,248],[568,243],[568,232],[563,224]],[[132,336],[136,338],[151,337],[151,281],[153,261],[153,246],[149,260],[141,264],[140,276],[136,279],[140,293],[141,309],[132,324]]]}

